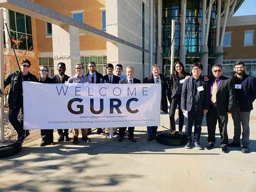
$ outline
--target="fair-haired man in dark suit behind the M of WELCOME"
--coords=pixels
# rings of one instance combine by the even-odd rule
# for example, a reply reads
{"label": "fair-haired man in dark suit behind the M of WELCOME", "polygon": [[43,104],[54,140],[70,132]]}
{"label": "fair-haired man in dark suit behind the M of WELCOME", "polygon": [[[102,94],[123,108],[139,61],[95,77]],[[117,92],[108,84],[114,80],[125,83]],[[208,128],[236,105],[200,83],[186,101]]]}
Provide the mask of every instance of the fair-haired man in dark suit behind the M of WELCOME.
{"label": "fair-haired man in dark suit behind the M of WELCOME", "polygon": [[[134,84],[134,83],[141,83],[139,79],[134,78],[134,68],[131,66],[126,67],[126,79],[122,79],[120,81],[121,84]],[[125,138],[125,130],[126,127],[119,128],[119,142],[124,140]],[[134,139],[134,127],[128,127],[128,139],[132,142],[136,142],[137,140]]]}

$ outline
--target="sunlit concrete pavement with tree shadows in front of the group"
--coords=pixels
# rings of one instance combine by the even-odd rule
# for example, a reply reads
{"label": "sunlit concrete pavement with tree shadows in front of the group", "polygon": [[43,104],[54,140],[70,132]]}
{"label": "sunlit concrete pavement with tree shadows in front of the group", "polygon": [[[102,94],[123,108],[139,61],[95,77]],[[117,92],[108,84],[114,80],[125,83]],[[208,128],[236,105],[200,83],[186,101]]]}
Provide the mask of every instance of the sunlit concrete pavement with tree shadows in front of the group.
{"label": "sunlit concrete pavement with tree shadows in front of the group", "polygon": [[[256,119],[256,113],[251,116]],[[169,116],[162,119],[169,127]],[[65,142],[40,147],[38,139],[24,144],[19,154],[0,159],[0,191],[255,192],[255,127],[256,120],[251,120],[249,154],[242,154],[240,148],[222,153],[218,128],[216,148],[209,151],[148,143],[146,128],[135,128],[137,143],[93,134],[91,143],[79,140],[78,145]],[[228,134],[231,141],[232,119]],[[56,132],[54,136],[56,141]],[[207,145],[205,126],[201,144]]]}

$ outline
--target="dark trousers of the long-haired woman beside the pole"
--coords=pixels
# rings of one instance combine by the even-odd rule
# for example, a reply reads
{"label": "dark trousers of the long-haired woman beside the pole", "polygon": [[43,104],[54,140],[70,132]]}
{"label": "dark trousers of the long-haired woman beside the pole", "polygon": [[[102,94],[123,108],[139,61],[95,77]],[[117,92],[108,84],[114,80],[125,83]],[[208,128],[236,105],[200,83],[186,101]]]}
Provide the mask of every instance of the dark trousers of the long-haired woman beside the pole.
{"label": "dark trousers of the long-haired woman beside the pole", "polygon": [[182,131],[182,128],[183,128],[183,125],[184,125],[184,115],[183,115],[183,112],[180,108],[180,102],[181,102],[181,96],[180,95],[175,95],[173,98],[172,98],[172,103],[171,103],[171,106],[170,106],[170,128],[172,130],[176,130],[176,126],[175,126],[175,111],[176,111],[176,108],[177,108],[177,105],[179,106],[178,107],[178,110],[179,110],[179,131]]}

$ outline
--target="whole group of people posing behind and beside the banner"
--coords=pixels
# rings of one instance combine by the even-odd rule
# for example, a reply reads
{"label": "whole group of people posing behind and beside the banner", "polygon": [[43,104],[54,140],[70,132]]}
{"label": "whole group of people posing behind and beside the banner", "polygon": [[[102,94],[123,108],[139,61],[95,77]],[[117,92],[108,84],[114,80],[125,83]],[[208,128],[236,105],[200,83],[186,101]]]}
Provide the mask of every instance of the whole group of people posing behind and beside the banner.
{"label": "whole group of people posing behind and beside the banner", "polygon": [[[139,79],[134,78],[134,68],[126,67],[126,76],[122,74],[122,65],[107,64],[107,75],[96,71],[96,64],[92,61],[88,63],[88,73],[84,75],[84,65],[77,63],[75,65],[76,74],[67,76],[65,74],[66,65],[58,63],[58,74],[54,78],[48,77],[48,68],[40,66],[40,77],[29,73],[31,63],[27,59],[20,62],[20,71],[11,73],[4,80],[4,87],[11,84],[9,92],[9,121],[17,131],[17,142],[22,143],[29,136],[28,130],[23,130],[23,89],[22,81],[35,81],[40,83],[111,83],[111,84],[140,84]],[[194,63],[191,66],[191,73],[185,72],[184,65],[177,61],[173,67],[173,73],[170,78],[160,74],[160,66],[154,64],[151,67],[151,74],[143,79],[143,83],[161,84],[161,111],[168,112],[168,100],[170,103],[169,117],[171,134],[183,134],[184,115],[187,118],[185,133],[187,143],[185,148],[192,148],[192,126],[194,125],[193,142],[195,148],[202,149],[200,144],[201,125],[203,117],[206,114],[208,145],[207,149],[214,148],[215,130],[218,121],[218,127],[221,135],[221,148],[224,153],[228,153],[227,146],[240,147],[240,136],[242,127],[242,148],[243,153],[249,151],[250,135],[250,111],[253,109],[253,101],[256,99],[256,78],[245,73],[245,65],[238,61],[234,64],[234,76],[232,79],[222,75],[222,67],[219,64],[212,66],[212,76],[201,76],[203,66]],[[115,74],[114,74],[115,71]],[[0,93],[2,96],[3,93]],[[176,132],[175,111],[178,106],[179,125]],[[21,110],[20,120],[18,114]],[[234,123],[233,142],[228,143],[227,122],[228,113],[232,114]],[[242,125],[242,126],[241,126]],[[113,137],[119,137],[122,142],[125,138],[127,127],[113,128]],[[119,131],[119,132],[118,132]],[[90,128],[81,129],[82,140],[90,142],[88,137],[92,130]],[[109,128],[97,128],[97,134],[109,137]],[[147,127],[147,141],[155,140],[157,126]],[[73,143],[79,142],[79,129],[73,128]],[[70,141],[68,129],[58,129],[58,142]],[[41,146],[53,145],[53,130],[41,130]],[[128,127],[128,139],[136,142],[134,138],[134,127]]]}

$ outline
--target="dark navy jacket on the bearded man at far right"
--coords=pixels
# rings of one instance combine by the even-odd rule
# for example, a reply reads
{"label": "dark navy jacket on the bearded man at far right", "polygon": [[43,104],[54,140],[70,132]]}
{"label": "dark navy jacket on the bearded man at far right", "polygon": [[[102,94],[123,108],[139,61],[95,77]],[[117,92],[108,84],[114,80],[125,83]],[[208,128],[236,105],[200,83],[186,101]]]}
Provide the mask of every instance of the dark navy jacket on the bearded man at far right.
{"label": "dark navy jacket on the bearded man at far right", "polygon": [[[233,76],[233,84],[235,84],[235,78]],[[241,112],[253,110],[253,102],[256,99],[256,78],[249,76],[246,73],[242,76],[241,79],[241,92],[238,98],[239,107]],[[233,85],[235,86],[235,85]]]}

